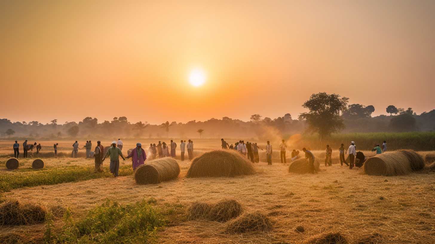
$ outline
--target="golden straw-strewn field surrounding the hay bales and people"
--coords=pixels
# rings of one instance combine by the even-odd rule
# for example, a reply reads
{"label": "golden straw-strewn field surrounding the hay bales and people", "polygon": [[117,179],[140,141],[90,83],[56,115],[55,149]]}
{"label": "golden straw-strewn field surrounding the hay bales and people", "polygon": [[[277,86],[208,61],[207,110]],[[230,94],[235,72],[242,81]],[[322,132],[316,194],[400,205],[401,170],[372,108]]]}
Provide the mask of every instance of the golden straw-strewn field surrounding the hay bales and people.
{"label": "golden straw-strewn field surrounding the hay bales and people", "polygon": [[[4,167],[6,155],[11,154],[12,143],[0,142],[1,174],[12,173]],[[54,142],[38,143],[42,145],[41,155],[53,151]],[[60,142],[58,152],[70,153],[72,143]],[[84,145],[84,142],[79,143],[80,147]],[[108,146],[109,143],[103,142],[103,145]],[[124,155],[135,143],[124,142]],[[145,141],[142,145],[147,149],[149,143],[157,144],[157,141]],[[96,141],[93,141],[93,145],[96,145]],[[265,145],[259,143],[259,146],[264,149]],[[105,199],[132,203],[143,198],[155,198],[158,206],[179,206],[180,212],[172,216],[171,224],[158,232],[158,243],[296,244],[336,232],[346,237],[348,243],[359,243],[368,235],[374,236],[371,242],[362,243],[435,243],[433,173],[423,170],[405,176],[368,176],[363,169],[341,166],[338,163],[338,151],[334,149],[332,166],[324,166],[324,152],[315,151],[315,156],[321,159],[320,172],[315,175],[293,174],[288,173],[290,151],[287,152],[287,164],[281,164],[278,145],[273,146],[273,164],[264,163],[265,153],[260,150],[261,162],[254,164],[257,173],[249,176],[186,178],[191,162],[180,161],[180,151],[177,149],[176,159],[181,173],[176,180],[155,185],[137,185],[133,176],[120,176],[24,187],[3,195],[6,199],[35,202],[46,207],[70,207],[74,216],[85,214]],[[194,142],[195,155],[219,148],[220,140],[197,139]],[[35,151],[34,158],[37,157]],[[364,153],[366,156],[374,155],[368,151]],[[424,156],[427,152],[419,153]],[[43,160],[47,168],[94,164],[93,159],[84,158]],[[108,161],[104,161],[104,164],[107,166]],[[121,161],[121,164],[131,165],[131,161],[127,159]],[[30,167],[31,160],[20,159],[20,168]],[[268,232],[228,234],[224,231],[225,224],[186,219],[187,207],[194,201],[213,203],[221,199],[237,200],[245,212],[260,211],[267,215],[273,229]],[[56,224],[62,225],[62,220],[56,220]],[[304,227],[305,232],[296,231],[298,226]],[[26,231],[37,234],[43,227],[44,224],[0,227],[0,234]]]}

